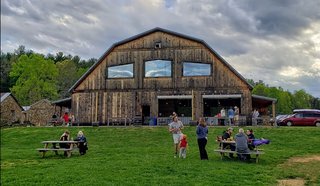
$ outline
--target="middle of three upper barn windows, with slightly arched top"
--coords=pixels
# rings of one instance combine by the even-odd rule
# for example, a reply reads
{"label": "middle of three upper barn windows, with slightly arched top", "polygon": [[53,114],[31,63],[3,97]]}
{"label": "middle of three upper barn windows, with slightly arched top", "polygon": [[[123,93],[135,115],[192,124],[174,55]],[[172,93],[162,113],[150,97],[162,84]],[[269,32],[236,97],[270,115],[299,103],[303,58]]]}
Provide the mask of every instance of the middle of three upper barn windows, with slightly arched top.
{"label": "middle of three upper barn windows, with slightly arched top", "polygon": [[171,77],[171,61],[146,61],[144,69],[145,77]]}

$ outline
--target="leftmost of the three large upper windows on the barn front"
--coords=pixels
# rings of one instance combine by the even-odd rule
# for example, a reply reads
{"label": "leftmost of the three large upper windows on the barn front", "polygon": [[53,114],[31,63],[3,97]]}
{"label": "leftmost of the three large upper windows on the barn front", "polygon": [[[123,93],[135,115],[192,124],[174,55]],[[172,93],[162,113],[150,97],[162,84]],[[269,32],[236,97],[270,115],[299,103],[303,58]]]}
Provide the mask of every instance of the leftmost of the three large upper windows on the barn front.
{"label": "leftmost of the three large upper windows on the barn front", "polygon": [[133,64],[108,67],[108,78],[132,78]]}

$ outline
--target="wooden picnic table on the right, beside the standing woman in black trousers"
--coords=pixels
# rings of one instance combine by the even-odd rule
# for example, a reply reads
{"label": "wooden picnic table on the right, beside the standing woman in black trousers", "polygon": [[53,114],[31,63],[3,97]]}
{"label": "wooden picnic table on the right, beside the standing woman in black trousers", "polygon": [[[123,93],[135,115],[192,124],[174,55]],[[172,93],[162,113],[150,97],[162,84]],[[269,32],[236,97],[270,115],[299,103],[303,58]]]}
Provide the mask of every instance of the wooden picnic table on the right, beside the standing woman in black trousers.
{"label": "wooden picnic table on the right, beside the standing woman in black trousers", "polygon": [[225,153],[232,153],[232,154],[249,154],[249,155],[255,155],[256,163],[259,162],[259,155],[264,154],[261,149],[258,149],[258,146],[254,148],[254,150],[250,150],[248,153],[239,153],[237,151],[232,151],[230,149],[224,149],[223,146],[224,144],[229,144],[229,145],[236,145],[235,141],[228,141],[228,140],[220,140],[219,142],[219,149],[215,149],[214,152],[220,153],[221,160],[225,156]]}

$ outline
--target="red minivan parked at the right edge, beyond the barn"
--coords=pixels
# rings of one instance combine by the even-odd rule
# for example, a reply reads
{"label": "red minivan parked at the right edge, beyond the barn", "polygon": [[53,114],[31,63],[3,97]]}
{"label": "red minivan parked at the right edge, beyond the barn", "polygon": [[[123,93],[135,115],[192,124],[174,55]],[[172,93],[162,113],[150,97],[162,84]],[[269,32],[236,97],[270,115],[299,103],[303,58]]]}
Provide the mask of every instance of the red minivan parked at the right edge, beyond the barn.
{"label": "red minivan parked at the right edge, beyond the barn", "polygon": [[317,126],[320,127],[320,110],[295,109],[292,115],[278,120],[279,125],[287,126]]}

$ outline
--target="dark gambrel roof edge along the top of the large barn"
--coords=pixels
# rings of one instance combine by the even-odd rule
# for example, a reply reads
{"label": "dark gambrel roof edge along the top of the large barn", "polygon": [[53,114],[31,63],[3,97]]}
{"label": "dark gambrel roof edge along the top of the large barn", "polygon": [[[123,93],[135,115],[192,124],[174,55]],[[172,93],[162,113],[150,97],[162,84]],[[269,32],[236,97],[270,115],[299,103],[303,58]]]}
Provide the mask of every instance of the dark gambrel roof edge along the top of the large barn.
{"label": "dark gambrel roof edge along the top of the large barn", "polygon": [[149,35],[149,34],[152,34],[152,33],[155,33],[155,32],[163,32],[163,33],[167,33],[167,34],[170,34],[170,35],[173,35],[173,36],[177,36],[177,37],[180,37],[180,38],[184,38],[184,39],[188,39],[188,40],[191,40],[191,41],[195,41],[195,42],[198,42],[202,45],[204,45],[206,48],[208,48],[210,50],[210,52],[212,52],[225,66],[227,66],[238,78],[240,78],[243,82],[245,82],[245,84],[248,85],[249,89],[253,89],[252,85],[249,84],[246,79],[239,73],[237,72],[227,61],[225,61],[215,50],[213,50],[205,41],[201,40],[201,39],[198,39],[198,38],[195,38],[195,37],[191,37],[191,36],[187,36],[187,35],[184,35],[184,34],[180,34],[180,33],[177,33],[177,32],[174,32],[174,31],[171,31],[171,30],[167,30],[167,29],[163,29],[163,28],[159,28],[159,27],[156,27],[156,28],[153,28],[151,30],[148,30],[148,31],[145,31],[143,33],[140,33],[138,35],[135,35],[135,36],[132,36],[132,37],[129,37],[127,39],[124,39],[122,41],[119,41],[117,43],[114,43],[100,58],[99,60],[93,64],[89,70],[80,77],[80,79],[69,89],[69,92],[72,92],[78,85],[80,85],[80,83],[106,58],[107,55],[109,55],[109,53],[111,53],[111,51],[115,48],[115,47],[118,47],[120,45],[123,45],[125,43],[128,43],[130,41],[133,41],[133,40],[136,40],[136,39],[139,39],[141,37],[144,37],[146,35]]}

